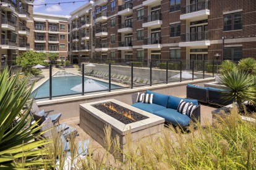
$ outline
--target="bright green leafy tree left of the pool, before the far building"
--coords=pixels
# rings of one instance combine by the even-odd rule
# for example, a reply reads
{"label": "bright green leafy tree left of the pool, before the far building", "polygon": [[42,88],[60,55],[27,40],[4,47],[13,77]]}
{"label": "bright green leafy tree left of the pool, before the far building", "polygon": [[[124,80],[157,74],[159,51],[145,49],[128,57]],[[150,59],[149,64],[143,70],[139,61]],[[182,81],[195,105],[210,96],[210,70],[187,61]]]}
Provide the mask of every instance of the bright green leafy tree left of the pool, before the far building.
{"label": "bright green leafy tree left of the pool, before the far building", "polygon": [[43,65],[44,60],[45,60],[45,53],[28,51],[28,52],[24,52],[22,55],[17,57],[15,62],[17,63],[17,65],[21,65],[24,70],[28,70],[28,68],[31,68],[34,65],[37,65],[37,64]]}

